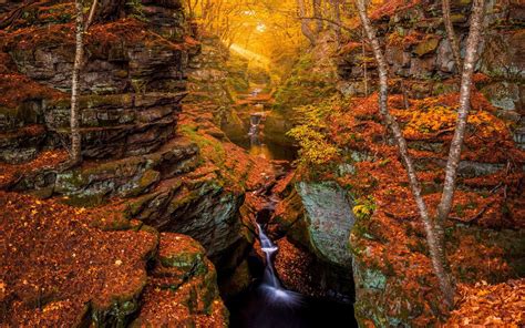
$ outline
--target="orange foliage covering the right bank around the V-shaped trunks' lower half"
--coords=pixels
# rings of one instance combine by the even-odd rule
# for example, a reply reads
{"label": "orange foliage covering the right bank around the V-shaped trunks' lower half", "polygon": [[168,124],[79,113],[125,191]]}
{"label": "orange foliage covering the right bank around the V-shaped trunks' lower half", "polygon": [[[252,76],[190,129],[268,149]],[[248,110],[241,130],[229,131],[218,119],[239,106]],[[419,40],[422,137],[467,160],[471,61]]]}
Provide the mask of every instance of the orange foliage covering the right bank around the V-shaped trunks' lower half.
{"label": "orange foliage covering the right bank around the V-shaped trunks' lower half", "polygon": [[[411,101],[405,110],[401,95],[391,95],[389,105],[404,127],[411,142],[440,144],[441,151],[411,148],[418,165],[424,198],[434,209],[440,201],[446,163],[447,146],[455,126],[459,94]],[[494,107],[484,96],[474,92],[472,115],[469,120],[463,160],[482,163],[513,163],[511,168],[477,178],[459,177],[460,186],[480,186],[455,193],[451,219],[446,227],[453,234],[447,239],[447,256],[454,275],[462,281],[480,279],[503,280],[512,275],[501,247],[481,243],[469,230],[459,230],[456,223],[491,228],[524,226],[524,174],[516,171],[525,163],[524,152],[516,148],[506,124],[494,115]],[[369,218],[359,219],[352,232],[352,248],[367,267],[379,268],[387,276],[395,276],[385,293],[390,299],[410,299],[424,305],[414,326],[432,324],[442,304],[437,281],[431,270],[424,229],[409,187],[406,172],[399,158],[398,147],[387,144],[387,131],[378,111],[378,96],[353,100],[328,119],[331,140],[340,147],[360,153],[352,163],[356,173],[337,177],[353,195],[371,197],[377,206]],[[424,127],[424,129],[423,129]],[[353,155],[352,155],[353,156]],[[353,158],[353,157],[352,157]],[[367,236],[360,235],[367,233]],[[485,234],[490,230],[482,230]],[[490,233],[487,233],[490,234]],[[483,237],[482,237],[483,238]],[[488,240],[488,239],[487,239]],[[361,249],[366,249],[362,253]],[[400,295],[403,295],[402,297]],[[387,296],[388,297],[388,296]],[[392,311],[405,305],[393,301]],[[387,309],[389,310],[389,309]],[[406,309],[408,310],[408,309]]]}

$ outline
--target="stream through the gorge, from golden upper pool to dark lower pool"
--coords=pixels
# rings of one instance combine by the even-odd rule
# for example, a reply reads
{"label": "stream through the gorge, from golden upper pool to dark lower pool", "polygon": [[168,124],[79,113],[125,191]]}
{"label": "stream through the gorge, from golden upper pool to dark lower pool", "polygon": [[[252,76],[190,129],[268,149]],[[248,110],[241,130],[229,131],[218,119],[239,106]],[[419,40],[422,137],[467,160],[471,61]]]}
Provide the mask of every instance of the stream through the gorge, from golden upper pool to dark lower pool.
{"label": "stream through the gorge, from golden upper pool to dark lower pool", "polygon": [[[262,113],[251,113],[246,139],[233,141],[255,156],[272,161],[276,171],[289,171],[297,150],[260,140]],[[243,294],[227,301],[233,328],[317,328],[358,327],[351,304],[317,299],[286,289],[274,267],[278,246],[265,232],[265,223],[280,201],[276,195],[264,193],[266,206],[257,214],[257,233],[265,260],[250,256],[250,267],[256,281]]]}

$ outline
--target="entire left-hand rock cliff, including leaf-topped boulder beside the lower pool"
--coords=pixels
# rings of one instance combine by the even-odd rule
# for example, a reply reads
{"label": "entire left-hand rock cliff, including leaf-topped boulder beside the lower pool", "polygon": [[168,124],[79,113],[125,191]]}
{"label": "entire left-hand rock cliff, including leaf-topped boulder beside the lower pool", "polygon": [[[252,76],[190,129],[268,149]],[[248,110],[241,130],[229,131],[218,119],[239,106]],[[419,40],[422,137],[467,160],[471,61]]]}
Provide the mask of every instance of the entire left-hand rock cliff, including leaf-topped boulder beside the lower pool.
{"label": "entire left-hand rock cliff, including leaf-topped boulder beside the lower pool", "polygon": [[[144,260],[151,267],[148,283],[133,294],[141,301],[93,317],[100,322],[122,321],[114,317],[122,315],[130,324],[128,316],[138,314],[137,326],[222,327],[227,312],[214,265],[205,256],[219,273],[235,271],[254,238],[240,214],[245,192],[266,184],[270,173],[265,178],[264,165],[223,140],[213,114],[209,121],[194,115],[195,110],[181,114],[187,73],[198,68],[202,48],[181,2],[121,4],[101,7],[85,34],[80,81],[84,161],[75,167],[63,165],[74,6],[40,1],[14,13],[18,6],[2,7],[16,19],[0,30],[0,187],[101,211],[95,222],[104,229],[127,232],[133,222],[168,232],[159,238],[159,256]],[[193,78],[189,82],[194,85]],[[193,104],[202,110],[200,103]],[[171,233],[189,235],[204,248]],[[156,246],[151,248],[155,253]],[[146,270],[141,275],[145,281]]]}

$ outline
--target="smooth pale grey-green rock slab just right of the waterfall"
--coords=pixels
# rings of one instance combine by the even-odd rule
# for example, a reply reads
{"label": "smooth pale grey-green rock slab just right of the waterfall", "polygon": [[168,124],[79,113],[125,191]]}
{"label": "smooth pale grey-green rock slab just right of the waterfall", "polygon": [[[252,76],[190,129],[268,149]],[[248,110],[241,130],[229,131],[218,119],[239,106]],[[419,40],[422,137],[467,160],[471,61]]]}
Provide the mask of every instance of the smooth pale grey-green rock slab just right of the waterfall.
{"label": "smooth pale grey-green rock slab just right of the waterfall", "polygon": [[328,263],[351,267],[348,238],[354,217],[347,193],[337,183],[297,184],[305,207],[308,235],[316,253]]}

